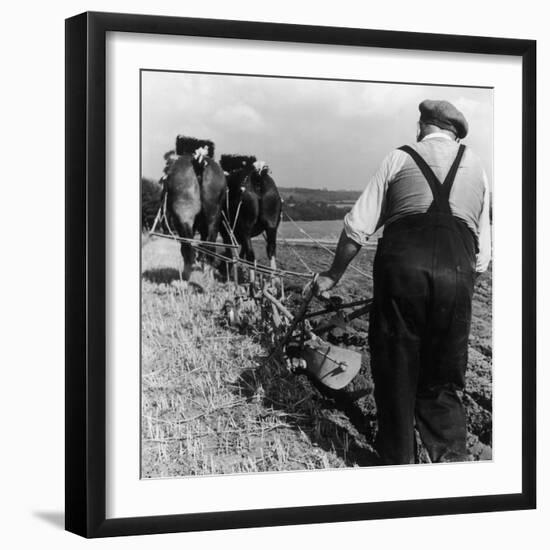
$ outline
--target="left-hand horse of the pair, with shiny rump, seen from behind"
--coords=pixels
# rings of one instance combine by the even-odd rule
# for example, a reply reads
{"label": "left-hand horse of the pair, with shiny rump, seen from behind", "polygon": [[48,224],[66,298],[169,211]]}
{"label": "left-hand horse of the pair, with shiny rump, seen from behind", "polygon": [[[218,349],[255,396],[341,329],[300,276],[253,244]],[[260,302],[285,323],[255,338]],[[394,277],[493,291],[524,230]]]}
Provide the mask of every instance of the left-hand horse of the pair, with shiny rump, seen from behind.
{"label": "left-hand horse of the pair, with shiny rump, seen from behind", "polygon": [[[225,175],[220,165],[211,158],[214,149],[211,142],[186,138],[191,145],[188,143],[184,147],[181,139],[178,137],[176,142],[178,156],[165,178],[168,218],[172,229],[180,237],[192,239],[198,231],[201,240],[215,242],[227,189]],[[197,153],[197,150],[200,152]],[[189,243],[182,242],[181,255],[182,276],[187,281],[195,261],[195,251]]]}

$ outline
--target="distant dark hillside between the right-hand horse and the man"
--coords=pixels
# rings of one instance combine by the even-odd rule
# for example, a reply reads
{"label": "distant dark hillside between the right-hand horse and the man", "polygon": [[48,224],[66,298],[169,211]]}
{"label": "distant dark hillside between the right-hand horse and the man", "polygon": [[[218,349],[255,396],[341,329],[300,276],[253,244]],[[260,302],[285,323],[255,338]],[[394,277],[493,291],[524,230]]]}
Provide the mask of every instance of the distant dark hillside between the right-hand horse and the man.
{"label": "distant dark hillside between the right-hand horse and the man", "polygon": [[305,187],[279,187],[283,210],[295,220],[341,220],[361,194],[360,191],[329,191]]}

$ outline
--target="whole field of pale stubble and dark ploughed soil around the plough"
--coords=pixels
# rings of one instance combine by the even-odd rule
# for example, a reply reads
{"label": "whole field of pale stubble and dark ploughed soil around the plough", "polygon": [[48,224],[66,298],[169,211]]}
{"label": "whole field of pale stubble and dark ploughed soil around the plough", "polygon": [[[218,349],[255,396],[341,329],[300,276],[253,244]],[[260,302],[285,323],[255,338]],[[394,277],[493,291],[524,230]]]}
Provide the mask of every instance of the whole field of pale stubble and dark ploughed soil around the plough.
{"label": "whole field of pale stubble and dark ploughed soil around the plough", "polygon": [[[300,222],[323,242],[336,241],[341,222]],[[304,235],[281,228],[278,264],[293,271],[322,270],[331,256],[296,244]],[[283,238],[284,237],[284,238]],[[284,239],[293,239],[294,244]],[[262,240],[255,241],[265,262]],[[369,297],[375,240],[365,247],[334,294]],[[306,268],[307,266],[307,268]],[[259,327],[236,330],[222,310],[234,286],[196,270],[179,277],[179,247],[166,239],[142,243],[142,475],[149,478],[239,472],[342,468],[376,464],[376,430],[368,319],[335,329],[331,341],[363,353],[360,374],[344,390],[330,392],[283,366],[266,365],[269,338]],[[286,289],[292,307],[304,279]],[[491,273],[476,284],[467,387],[472,460],[491,458]],[[421,453],[420,460],[426,456]]]}

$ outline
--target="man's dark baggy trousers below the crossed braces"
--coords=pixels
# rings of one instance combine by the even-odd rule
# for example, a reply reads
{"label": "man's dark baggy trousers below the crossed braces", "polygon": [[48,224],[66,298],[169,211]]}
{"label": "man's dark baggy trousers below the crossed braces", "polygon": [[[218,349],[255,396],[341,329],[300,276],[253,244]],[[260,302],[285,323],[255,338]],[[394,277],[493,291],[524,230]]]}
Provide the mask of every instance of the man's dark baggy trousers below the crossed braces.
{"label": "man's dark baggy trousers below the crossed braces", "polygon": [[385,464],[414,462],[415,424],[433,462],[467,460],[457,391],[465,383],[474,277],[473,235],[452,216],[408,216],[379,241],[369,344]]}

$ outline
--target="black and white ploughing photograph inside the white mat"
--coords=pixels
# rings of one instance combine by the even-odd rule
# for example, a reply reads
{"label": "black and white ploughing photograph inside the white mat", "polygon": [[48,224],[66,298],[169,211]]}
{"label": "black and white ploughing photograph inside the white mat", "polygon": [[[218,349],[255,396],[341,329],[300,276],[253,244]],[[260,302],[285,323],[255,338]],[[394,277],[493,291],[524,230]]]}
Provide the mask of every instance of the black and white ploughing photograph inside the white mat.
{"label": "black and white ploughing photograph inside the white mat", "polygon": [[494,90],[140,101],[142,479],[491,461]]}

